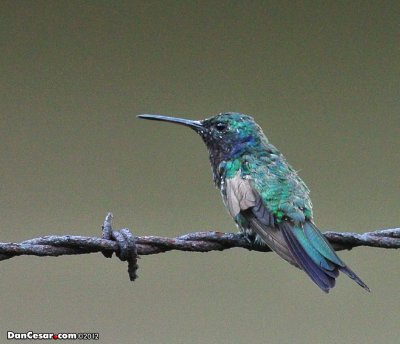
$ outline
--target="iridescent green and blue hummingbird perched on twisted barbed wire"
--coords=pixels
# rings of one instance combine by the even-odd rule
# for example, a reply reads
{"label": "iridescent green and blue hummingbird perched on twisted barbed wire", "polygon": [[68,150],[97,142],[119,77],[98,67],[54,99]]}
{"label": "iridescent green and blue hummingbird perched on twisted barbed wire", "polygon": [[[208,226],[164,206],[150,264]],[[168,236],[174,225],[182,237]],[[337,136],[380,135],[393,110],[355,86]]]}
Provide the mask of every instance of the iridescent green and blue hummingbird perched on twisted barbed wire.
{"label": "iridescent green and blue hummingbird perched on twisted barbed wire", "polygon": [[214,184],[246,239],[267,245],[326,293],[335,286],[339,272],[369,291],[316,227],[308,187],[253,117],[236,112],[204,120],[138,117],[180,124],[200,135]]}

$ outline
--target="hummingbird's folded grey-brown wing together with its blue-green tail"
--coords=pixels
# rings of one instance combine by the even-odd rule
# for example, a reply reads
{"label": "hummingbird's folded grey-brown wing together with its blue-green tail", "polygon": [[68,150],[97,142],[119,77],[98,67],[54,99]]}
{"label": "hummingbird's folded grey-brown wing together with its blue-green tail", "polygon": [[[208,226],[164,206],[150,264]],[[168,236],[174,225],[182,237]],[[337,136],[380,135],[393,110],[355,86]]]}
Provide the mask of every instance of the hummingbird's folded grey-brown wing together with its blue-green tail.
{"label": "hummingbird's folded grey-brown wing together with its blue-green tail", "polygon": [[226,180],[226,204],[231,215],[243,217],[252,230],[277,254],[304,270],[323,291],[335,285],[339,270],[368,290],[363,281],[336,255],[311,221],[276,221],[251,179],[237,173]]}

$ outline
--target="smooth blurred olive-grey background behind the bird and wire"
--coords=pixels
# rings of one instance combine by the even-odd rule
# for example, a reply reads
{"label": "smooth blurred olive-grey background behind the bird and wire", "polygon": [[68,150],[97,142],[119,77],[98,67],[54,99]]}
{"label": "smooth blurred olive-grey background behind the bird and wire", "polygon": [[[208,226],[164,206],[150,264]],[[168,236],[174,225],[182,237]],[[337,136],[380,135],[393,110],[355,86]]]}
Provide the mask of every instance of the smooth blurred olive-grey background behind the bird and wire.
{"label": "smooth blurred olive-grey background behind the bird and wire", "polygon": [[[321,230],[400,225],[396,2],[2,1],[0,241],[234,231],[192,131],[140,113],[252,114],[311,189]],[[1,262],[0,336],[110,343],[398,343],[399,253],[341,257],[329,295],[275,254]]]}

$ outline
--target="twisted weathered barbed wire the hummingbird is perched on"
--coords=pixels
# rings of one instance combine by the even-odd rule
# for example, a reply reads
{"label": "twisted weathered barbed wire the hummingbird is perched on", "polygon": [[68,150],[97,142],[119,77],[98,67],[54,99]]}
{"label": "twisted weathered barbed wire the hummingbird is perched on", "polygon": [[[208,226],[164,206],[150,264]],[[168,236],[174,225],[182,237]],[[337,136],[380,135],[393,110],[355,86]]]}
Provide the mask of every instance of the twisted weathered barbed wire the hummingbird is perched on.
{"label": "twisted weathered barbed wire the hummingbird is perched on", "polygon": [[[0,261],[22,255],[58,257],[94,252],[102,252],[105,257],[111,258],[115,253],[120,260],[128,262],[129,278],[133,281],[137,277],[137,258],[140,255],[172,250],[223,251],[234,247],[259,252],[270,251],[267,246],[251,244],[242,235],[235,233],[195,232],[175,238],[134,236],[127,228],[113,230],[112,219],[112,214],[108,213],[102,226],[101,237],[48,235],[20,243],[0,243]],[[358,246],[400,248],[400,228],[382,229],[363,234],[325,232],[324,235],[337,251],[350,250]]]}

